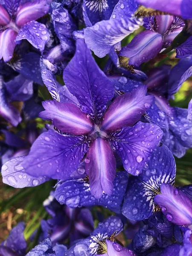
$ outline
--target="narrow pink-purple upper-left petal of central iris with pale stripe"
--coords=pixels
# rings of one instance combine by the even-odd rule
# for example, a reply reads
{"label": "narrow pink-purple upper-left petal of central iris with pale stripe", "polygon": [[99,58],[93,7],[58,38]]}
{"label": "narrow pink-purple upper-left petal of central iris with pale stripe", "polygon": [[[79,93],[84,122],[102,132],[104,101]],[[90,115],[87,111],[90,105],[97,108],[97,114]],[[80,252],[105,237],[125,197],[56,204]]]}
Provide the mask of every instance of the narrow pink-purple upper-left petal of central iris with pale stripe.
{"label": "narrow pink-purple upper-left petal of central iris with pale stripe", "polygon": [[42,102],[42,105],[45,111],[39,116],[44,120],[52,120],[52,124],[61,131],[82,135],[93,129],[90,119],[74,104],[48,100]]}

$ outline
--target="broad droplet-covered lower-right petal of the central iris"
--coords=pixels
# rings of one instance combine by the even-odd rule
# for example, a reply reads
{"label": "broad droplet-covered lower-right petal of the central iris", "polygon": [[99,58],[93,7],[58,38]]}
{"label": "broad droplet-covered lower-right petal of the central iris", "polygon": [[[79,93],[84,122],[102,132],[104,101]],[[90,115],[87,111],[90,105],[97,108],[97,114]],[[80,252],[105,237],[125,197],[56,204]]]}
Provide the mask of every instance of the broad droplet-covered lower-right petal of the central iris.
{"label": "broad droplet-covered lower-right petal of the central iris", "polygon": [[152,151],[159,144],[163,132],[157,125],[137,122],[113,133],[111,144],[122,159],[123,167],[132,175],[139,175]]}

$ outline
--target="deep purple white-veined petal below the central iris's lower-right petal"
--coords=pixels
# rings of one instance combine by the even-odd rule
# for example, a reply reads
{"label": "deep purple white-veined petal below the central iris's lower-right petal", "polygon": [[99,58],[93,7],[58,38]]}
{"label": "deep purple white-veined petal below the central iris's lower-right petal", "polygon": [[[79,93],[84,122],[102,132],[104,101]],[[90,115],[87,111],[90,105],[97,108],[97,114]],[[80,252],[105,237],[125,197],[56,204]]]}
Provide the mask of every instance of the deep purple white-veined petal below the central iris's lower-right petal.
{"label": "deep purple white-veined petal below the central iris's lower-right petal", "polygon": [[166,146],[154,149],[148,166],[138,177],[131,177],[122,206],[122,214],[130,220],[143,220],[152,215],[154,196],[160,193],[160,184],[174,183],[175,159]]}

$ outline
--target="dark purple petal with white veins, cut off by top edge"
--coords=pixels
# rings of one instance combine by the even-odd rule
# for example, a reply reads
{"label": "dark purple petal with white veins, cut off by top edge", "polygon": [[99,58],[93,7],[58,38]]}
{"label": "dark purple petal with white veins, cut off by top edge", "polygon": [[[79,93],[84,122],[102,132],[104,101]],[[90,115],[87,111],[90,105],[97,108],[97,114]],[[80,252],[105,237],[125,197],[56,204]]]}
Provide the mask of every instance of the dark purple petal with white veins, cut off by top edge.
{"label": "dark purple petal with white veins, cut off by top edge", "polygon": [[83,14],[87,26],[101,20],[109,20],[118,0],[84,0]]}

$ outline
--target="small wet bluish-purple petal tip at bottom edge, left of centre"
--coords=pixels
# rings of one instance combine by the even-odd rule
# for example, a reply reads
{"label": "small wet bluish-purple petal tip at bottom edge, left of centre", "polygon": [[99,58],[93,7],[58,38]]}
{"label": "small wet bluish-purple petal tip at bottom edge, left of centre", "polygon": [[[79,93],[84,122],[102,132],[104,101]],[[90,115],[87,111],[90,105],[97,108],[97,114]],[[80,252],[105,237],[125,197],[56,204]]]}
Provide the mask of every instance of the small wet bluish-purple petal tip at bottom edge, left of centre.
{"label": "small wet bluish-purple petal tip at bottom edge, left of centre", "polygon": [[56,253],[52,250],[51,239],[46,238],[30,250],[26,256],[56,256]]}

